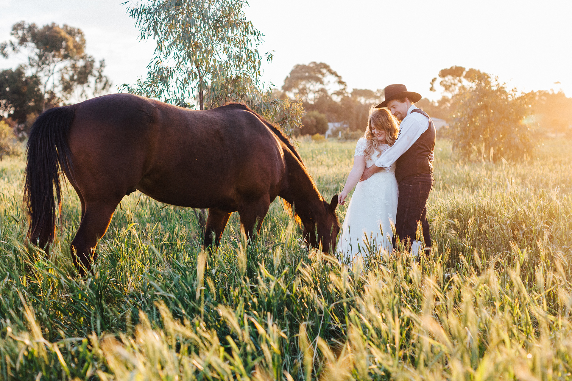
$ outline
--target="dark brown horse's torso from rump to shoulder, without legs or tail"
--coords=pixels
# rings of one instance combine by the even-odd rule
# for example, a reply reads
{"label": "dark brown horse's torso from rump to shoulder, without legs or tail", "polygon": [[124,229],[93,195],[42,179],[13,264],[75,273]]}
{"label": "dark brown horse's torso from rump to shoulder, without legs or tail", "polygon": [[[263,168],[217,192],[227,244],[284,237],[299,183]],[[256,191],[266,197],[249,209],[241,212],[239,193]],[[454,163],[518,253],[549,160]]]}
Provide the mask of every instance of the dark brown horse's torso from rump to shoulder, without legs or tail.
{"label": "dark brown horse's torso from rump to shoulder, without legs or tail", "polygon": [[[77,105],[69,135],[78,181],[209,207],[280,187],[283,145],[242,105],[188,110],[130,94]],[[80,186],[86,188],[86,185]]]}

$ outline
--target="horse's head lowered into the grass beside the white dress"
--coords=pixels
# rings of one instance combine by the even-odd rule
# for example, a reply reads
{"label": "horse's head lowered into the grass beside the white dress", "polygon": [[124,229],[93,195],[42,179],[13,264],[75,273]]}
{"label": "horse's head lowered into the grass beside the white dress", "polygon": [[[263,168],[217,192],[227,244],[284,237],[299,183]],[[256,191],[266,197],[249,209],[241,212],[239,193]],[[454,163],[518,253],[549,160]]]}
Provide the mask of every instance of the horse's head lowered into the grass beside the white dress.
{"label": "horse's head lowered into the grass beside the white dress", "polygon": [[[331,252],[336,250],[336,238],[340,232],[340,223],[337,220],[337,194],[332,197],[328,204],[323,201],[323,210],[315,210],[313,231],[304,227],[304,240],[312,247],[319,247],[321,243],[322,251]],[[317,237],[316,237],[317,233]]]}

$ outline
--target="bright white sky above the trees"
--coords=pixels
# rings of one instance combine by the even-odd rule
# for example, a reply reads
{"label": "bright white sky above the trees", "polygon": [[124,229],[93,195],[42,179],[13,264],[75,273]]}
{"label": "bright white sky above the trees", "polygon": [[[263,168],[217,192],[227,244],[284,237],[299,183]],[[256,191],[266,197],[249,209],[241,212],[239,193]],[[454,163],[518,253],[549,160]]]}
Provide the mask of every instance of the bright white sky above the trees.
{"label": "bright white sky above the trees", "polygon": [[[88,53],[105,58],[114,85],[146,73],[153,43],[138,41],[124,0],[0,0],[0,41],[13,23],[56,22],[84,30]],[[297,63],[328,63],[348,88],[404,83],[424,97],[440,69],[474,67],[519,90],[563,89],[572,97],[572,1],[249,0],[265,34],[264,80],[280,87]],[[20,58],[22,60],[22,58]],[[0,68],[18,59],[0,58]],[[554,82],[560,82],[555,84]]]}

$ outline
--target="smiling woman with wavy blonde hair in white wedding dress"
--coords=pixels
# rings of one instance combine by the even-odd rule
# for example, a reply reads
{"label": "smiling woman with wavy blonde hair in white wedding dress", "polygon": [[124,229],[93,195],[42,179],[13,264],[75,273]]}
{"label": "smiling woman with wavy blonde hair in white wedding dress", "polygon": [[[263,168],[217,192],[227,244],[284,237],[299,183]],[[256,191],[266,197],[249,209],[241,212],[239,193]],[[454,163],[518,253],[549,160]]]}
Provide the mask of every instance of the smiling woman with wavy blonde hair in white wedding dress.
{"label": "smiling woman with wavy blonde hair in white wedding dress", "polygon": [[366,133],[356,145],[352,170],[338,198],[344,205],[349,192],[356,187],[337,243],[337,252],[344,260],[353,260],[356,255],[365,258],[378,248],[392,250],[391,225],[395,224],[398,200],[395,163],[366,181],[359,179],[364,169],[374,165],[379,155],[395,143],[398,134],[399,123],[389,111],[370,110]]}

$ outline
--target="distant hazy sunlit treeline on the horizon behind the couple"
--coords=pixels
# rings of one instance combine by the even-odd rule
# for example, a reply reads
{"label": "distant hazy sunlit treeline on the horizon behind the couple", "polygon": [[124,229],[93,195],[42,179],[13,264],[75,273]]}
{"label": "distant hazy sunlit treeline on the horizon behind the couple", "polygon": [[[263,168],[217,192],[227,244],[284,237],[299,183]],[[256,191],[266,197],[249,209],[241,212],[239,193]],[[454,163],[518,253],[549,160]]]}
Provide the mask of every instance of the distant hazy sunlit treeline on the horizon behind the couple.
{"label": "distant hazy sunlit treeline on the horizon behind the couple", "polygon": [[[433,118],[444,119],[450,125],[454,123],[456,117],[459,117],[460,111],[467,112],[459,109],[462,98],[468,94],[467,92],[474,90],[478,83],[492,80],[495,84],[489,85],[501,93],[505,91],[505,95],[511,99],[526,95],[530,107],[519,117],[522,117],[528,125],[534,125],[537,132],[570,133],[572,98],[567,98],[562,91],[539,90],[528,94],[516,94],[505,89],[505,86],[493,76],[476,69],[467,70],[462,66],[441,70],[439,76],[430,83],[431,91],[435,91],[438,79],[444,89],[441,98],[438,101],[423,98],[416,103],[416,106]],[[383,89],[349,90],[341,75],[323,62],[294,66],[285,78],[284,85],[280,90],[275,90],[275,94],[280,98],[297,96],[304,103],[307,114],[303,118],[304,126],[299,131],[303,135],[325,133],[328,129],[327,122],[341,122],[340,128],[363,131],[366,128],[370,107],[383,101],[384,95]],[[500,93],[497,95],[505,96]]]}

